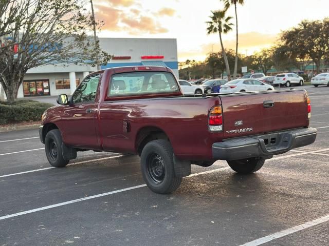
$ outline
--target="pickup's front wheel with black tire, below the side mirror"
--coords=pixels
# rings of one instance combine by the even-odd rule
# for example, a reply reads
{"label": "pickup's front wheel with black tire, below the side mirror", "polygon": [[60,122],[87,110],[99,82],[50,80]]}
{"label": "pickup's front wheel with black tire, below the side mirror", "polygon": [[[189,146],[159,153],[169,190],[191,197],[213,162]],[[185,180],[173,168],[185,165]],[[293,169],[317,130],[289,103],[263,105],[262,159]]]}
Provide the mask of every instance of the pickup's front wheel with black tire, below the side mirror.
{"label": "pickup's front wheel with black tire, below the side mirror", "polygon": [[58,129],[47,133],[45,138],[46,156],[50,165],[56,168],[63,168],[69,162],[63,158],[62,143],[62,135]]}

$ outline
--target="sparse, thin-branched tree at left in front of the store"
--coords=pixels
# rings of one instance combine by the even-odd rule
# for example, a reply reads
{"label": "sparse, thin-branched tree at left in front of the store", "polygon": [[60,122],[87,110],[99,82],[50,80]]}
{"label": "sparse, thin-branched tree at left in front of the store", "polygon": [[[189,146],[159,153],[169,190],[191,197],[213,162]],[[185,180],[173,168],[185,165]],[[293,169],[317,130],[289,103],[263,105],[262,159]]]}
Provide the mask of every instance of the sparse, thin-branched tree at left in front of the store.
{"label": "sparse, thin-branched tree at left in front of the store", "polygon": [[9,7],[0,10],[0,82],[8,101],[17,97],[31,68],[58,63],[95,65],[97,57],[104,64],[111,58],[87,36],[94,20],[81,1],[9,1]]}

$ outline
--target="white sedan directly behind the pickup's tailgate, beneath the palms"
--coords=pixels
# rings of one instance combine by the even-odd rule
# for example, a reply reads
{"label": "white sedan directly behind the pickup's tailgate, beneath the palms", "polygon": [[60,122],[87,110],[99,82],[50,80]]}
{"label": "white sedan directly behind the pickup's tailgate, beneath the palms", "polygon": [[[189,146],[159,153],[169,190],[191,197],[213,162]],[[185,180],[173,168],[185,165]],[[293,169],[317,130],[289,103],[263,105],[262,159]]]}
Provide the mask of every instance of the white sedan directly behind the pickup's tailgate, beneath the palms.
{"label": "white sedan directly behind the pickup's tailgate, beneath the palms", "polygon": [[244,92],[244,91],[273,91],[274,87],[257,79],[234,79],[221,86],[221,93]]}

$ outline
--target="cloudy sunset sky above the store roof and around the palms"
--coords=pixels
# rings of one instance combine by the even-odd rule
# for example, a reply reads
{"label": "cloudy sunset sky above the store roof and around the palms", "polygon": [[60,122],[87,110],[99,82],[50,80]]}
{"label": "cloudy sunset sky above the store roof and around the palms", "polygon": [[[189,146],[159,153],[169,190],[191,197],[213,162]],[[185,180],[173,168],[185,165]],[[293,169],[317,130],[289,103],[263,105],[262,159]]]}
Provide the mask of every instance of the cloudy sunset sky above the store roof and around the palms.
{"label": "cloudy sunset sky above the store roof and around the palms", "polygon": [[[223,8],[219,0],[94,0],[94,5],[96,18],[105,22],[99,37],[177,38],[179,61],[203,60],[220,50],[218,35],[206,31],[211,10]],[[328,0],[245,0],[237,9],[239,52],[269,47],[281,30],[329,17],[328,10]],[[229,15],[234,17],[233,8]],[[225,48],[235,49],[235,27],[223,39]]]}

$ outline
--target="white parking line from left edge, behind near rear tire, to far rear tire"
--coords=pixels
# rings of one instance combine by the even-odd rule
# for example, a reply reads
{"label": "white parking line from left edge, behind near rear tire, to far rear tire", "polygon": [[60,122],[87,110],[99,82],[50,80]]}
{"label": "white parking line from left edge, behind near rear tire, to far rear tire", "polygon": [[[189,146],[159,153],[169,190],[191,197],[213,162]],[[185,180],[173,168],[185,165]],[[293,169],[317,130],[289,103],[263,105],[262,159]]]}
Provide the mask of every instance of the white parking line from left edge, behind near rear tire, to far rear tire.
{"label": "white parking line from left edge, behind near rear tire, to far rear tire", "polygon": [[[229,167],[217,168],[217,169],[206,171],[206,172],[194,173],[194,174],[190,175],[189,177],[195,177],[195,176],[198,176],[198,175],[214,173],[214,172],[227,170],[227,169],[229,169]],[[102,197],[102,196],[108,196],[108,195],[112,195],[112,194],[116,194],[116,193],[120,193],[120,192],[124,192],[124,191],[135,190],[135,189],[142,188],[142,187],[145,187],[145,186],[147,186],[147,185],[143,184],[143,185],[140,185],[140,186],[133,186],[133,187],[117,190],[117,191],[110,191],[110,192],[101,193],[101,194],[94,195],[94,196],[87,196],[87,197],[83,197],[83,198],[79,198],[79,199],[75,199],[75,200],[56,203],[56,204],[52,204],[52,205],[49,205],[49,206],[46,206],[46,207],[31,209],[31,210],[23,211],[23,212],[20,212],[20,213],[8,214],[8,215],[0,217],[0,220],[12,218],[12,217],[17,217],[17,216],[21,216],[21,215],[25,215],[25,214],[35,213],[35,212],[39,212],[39,211],[43,211],[43,210],[47,210],[47,209],[57,208],[57,207],[65,206],[67,204],[76,203],[76,202],[79,202],[79,201],[90,200],[90,199],[94,199],[94,198],[98,198],[98,197]]]}

